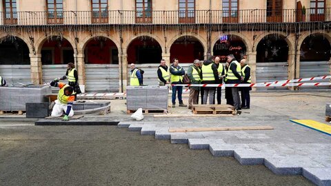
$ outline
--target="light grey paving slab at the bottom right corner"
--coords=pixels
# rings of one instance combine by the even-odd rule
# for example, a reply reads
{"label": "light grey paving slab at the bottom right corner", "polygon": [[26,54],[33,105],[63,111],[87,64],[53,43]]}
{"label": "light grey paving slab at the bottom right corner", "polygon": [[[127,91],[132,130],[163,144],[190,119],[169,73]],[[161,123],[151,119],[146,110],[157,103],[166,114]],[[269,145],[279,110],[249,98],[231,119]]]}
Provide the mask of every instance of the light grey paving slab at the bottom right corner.
{"label": "light grey paving slab at the bottom right corner", "polygon": [[320,186],[331,185],[331,167],[303,168],[302,175],[316,185],[320,185]]}

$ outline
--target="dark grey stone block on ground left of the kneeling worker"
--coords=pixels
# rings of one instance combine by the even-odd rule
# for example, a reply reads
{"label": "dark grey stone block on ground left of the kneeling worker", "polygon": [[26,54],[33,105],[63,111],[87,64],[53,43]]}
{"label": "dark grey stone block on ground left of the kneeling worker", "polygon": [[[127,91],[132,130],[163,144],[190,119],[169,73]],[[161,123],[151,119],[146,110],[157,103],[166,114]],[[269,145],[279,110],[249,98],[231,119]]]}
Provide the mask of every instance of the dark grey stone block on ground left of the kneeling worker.
{"label": "dark grey stone block on ground left of the kneeling worker", "polygon": [[50,116],[49,103],[26,103],[27,118],[46,118]]}

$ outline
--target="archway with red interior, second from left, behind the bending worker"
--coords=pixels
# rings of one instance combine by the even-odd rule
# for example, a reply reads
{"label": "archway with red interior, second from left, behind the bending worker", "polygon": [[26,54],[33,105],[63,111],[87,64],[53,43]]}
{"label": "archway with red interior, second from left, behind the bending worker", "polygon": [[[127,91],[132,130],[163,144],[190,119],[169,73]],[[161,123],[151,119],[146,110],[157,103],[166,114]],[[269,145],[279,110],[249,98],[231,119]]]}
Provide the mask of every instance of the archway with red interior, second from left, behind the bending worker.
{"label": "archway with red interior, second from left, behind the bending worker", "polygon": [[71,43],[63,37],[52,36],[44,39],[41,44],[43,83],[66,75],[67,64],[74,63],[74,49]]}

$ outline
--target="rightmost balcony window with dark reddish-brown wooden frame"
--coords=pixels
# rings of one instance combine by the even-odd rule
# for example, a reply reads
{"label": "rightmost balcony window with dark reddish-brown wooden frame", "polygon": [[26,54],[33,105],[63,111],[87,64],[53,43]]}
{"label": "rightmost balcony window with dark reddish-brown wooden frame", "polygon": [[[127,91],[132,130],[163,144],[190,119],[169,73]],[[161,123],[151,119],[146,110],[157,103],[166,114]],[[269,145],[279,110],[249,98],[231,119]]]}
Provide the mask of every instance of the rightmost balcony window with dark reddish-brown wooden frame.
{"label": "rightmost balcony window with dark reddish-brown wooden frame", "polygon": [[325,21],[325,0],[310,1],[310,21]]}

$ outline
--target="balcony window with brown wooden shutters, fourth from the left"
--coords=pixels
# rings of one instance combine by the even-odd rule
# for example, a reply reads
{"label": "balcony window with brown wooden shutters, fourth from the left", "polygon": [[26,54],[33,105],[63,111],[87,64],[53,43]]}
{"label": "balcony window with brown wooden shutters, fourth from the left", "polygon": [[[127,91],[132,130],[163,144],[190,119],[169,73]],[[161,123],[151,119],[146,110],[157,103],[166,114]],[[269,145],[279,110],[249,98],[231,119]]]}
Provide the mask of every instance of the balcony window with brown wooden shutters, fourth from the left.
{"label": "balcony window with brown wooden shutters, fourth from the left", "polygon": [[136,23],[152,23],[152,0],[136,0]]}

